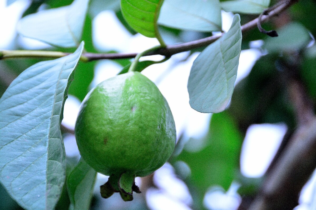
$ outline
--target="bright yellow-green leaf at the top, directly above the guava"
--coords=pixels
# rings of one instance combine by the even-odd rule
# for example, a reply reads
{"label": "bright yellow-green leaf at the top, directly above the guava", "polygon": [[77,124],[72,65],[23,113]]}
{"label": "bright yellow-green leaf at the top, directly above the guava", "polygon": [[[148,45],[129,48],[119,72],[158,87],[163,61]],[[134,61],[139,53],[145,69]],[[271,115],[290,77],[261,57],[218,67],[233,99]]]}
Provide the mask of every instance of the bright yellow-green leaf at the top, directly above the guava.
{"label": "bright yellow-green leaf at the top, directly above the guava", "polygon": [[124,18],[130,26],[146,37],[160,37],[157,20],[163,0],[121,0]]}

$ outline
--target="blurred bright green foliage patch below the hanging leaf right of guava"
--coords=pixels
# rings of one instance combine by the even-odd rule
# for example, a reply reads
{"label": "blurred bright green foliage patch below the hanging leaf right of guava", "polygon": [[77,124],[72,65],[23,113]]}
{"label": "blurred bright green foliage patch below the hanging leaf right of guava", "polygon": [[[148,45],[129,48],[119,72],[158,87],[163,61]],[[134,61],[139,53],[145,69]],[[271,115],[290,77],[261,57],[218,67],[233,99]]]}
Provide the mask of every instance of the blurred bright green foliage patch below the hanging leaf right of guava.
{"label": "blurred bright green foliage patch below the hanging leaf right of guava", "polygon": [[[239,167],[242,137],[227,111],[213,114],[205,147],[197,152],[184,149],[176,158],[191,169],[190,183],[197,187],[200,197],[214,186],[227,190]],[[193,142],[194,143],[194,142]],[[185,145],[185,148],[190,149]]]}

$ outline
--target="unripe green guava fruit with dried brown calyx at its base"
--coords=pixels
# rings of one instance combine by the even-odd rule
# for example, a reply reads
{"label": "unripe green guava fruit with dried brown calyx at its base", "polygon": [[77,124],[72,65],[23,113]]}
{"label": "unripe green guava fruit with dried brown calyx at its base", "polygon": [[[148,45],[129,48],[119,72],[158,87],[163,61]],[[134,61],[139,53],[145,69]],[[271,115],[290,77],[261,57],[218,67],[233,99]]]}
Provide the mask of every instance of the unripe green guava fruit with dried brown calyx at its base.
{"label": "unripe green guava fruit with dried brown calyx at its base", "polygon": [[80,154],[110,176],[101,196],[119,192],[125,201],[140,193],[135,177],[160,168],[173,153],[176,131],[166,99],[139,72],[107,79],[83,100],[75,126]]}

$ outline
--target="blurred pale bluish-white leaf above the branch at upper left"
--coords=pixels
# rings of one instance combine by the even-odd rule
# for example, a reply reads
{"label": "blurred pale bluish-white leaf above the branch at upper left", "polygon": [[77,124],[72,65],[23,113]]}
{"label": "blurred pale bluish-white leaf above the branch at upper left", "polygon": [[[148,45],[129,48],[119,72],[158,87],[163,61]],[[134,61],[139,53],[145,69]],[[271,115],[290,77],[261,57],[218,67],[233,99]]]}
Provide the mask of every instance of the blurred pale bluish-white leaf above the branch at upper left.
{"label": "blurred pale bluish-white leaf above the branch at upper left", "polygon": [[17,31],[58,47],[76,47],[82,36],[89,0],[75,0],[69,6],[48,9],[22,18]]}

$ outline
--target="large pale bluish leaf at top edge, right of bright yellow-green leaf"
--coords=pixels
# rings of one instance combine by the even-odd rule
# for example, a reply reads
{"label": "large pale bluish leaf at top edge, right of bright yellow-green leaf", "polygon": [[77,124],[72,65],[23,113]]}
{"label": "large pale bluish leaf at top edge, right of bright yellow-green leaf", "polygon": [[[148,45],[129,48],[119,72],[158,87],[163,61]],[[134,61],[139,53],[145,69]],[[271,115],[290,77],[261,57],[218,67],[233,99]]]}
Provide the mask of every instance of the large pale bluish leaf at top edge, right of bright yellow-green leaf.
{"label": "large pale bluish leaf at top edge, right of bright yellow-green leaf", "polygon": [[218,0],[165,0],[158,23],[193,31],[221,31],[221,5]]}

